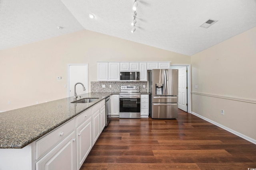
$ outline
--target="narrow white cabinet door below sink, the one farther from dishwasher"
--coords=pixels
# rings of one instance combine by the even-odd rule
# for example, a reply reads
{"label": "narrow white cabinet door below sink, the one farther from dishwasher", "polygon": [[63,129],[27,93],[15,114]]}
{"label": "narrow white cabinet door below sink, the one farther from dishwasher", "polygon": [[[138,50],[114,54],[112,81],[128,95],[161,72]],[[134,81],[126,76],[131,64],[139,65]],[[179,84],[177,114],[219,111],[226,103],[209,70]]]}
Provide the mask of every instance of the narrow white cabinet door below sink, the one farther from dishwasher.
{"label": "narrow white cabinet door below sink, the one farther from dishwasher", "polygon": [[92,145],[95,144],[100,136],[100,109],[92,115]]}

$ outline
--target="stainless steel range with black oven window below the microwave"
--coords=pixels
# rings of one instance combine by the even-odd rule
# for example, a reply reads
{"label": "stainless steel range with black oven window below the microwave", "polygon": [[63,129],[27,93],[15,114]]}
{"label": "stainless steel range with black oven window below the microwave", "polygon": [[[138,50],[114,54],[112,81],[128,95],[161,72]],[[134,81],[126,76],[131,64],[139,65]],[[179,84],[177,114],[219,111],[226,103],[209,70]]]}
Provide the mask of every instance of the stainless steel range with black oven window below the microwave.
{"label": "stainless steel range with black oven window below the microwave", "polygon": [[121,86],[119,118],[140,118],[140,86]]}

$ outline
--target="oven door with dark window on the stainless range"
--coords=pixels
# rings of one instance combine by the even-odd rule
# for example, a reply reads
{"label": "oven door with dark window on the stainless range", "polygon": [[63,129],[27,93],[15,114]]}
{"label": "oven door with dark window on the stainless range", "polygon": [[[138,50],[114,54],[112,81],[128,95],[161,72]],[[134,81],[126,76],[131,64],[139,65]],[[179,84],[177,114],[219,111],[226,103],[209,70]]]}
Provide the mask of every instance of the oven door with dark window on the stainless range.
{"label": "oven door with dark window on the stainless range", "polygon": [[120,98],[120,118],[140,118],[140,98]]}

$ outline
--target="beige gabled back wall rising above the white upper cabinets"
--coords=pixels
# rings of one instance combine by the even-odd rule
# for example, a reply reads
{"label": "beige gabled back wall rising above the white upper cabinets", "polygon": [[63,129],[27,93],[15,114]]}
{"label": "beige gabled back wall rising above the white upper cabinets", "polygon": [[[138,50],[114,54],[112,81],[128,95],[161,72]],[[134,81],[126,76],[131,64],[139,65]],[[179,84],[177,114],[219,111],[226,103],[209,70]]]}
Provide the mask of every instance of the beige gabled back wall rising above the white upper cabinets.
{"label": "beige gabled back wall rising above the white upper cabinets", "polygon": [[190,64],[190,57],[87,30],[2,50],[0,111],[66,98],[68,64],[88,63],[90,91],[90,82],[97,80],[96,61]]}

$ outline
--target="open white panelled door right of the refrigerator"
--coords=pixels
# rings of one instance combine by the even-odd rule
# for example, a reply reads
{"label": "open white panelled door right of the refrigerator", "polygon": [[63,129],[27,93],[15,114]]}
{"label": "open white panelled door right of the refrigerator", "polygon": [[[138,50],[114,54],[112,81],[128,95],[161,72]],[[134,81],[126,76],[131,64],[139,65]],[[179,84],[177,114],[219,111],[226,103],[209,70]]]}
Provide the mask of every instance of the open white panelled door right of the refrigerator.
{"label": "open white panelled door right of the refrigerator", "polygon": [[187,106],[187,67],[179,68],[179,83],[178,83],[178,108],[188,111]]}

